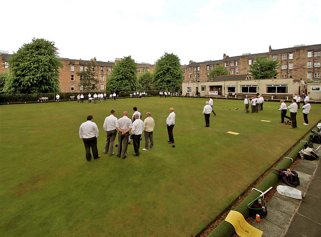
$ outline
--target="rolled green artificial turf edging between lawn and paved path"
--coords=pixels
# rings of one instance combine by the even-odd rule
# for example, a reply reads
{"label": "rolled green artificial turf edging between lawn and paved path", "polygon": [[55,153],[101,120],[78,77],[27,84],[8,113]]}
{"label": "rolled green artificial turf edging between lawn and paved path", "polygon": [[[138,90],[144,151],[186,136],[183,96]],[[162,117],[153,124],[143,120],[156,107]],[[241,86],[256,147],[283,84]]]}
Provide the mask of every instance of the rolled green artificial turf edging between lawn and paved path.
{"label": "rolled green artificial turf edging between lawn and paved path", "polygon": [[[318,128],[315,128],[318,130]],[[310,135],[313,133],[309,133],[303,141],[310,141]],[[300,142],[288,155],[287,157],[292,158],[293,162],[298,158],[298,153],[301,149],[304,148],[304,142]],[[292,164],[291,159],[284,158],[280,164],[278,164],[274,169],[286,168],[288,169]],[[257,187],[256,189],[264,192],[269,187],[274,187],[279,182],[279,176],[273,172],[271,172]],[[241,213],[246,219],[249,215],[248,205],[255,198],[257,198],[261,193],[256,190],[253,190],[235,209]],[[208,237],[230,237],[235,233],[234,226],[227,221],[222,221],[209,235]]]}

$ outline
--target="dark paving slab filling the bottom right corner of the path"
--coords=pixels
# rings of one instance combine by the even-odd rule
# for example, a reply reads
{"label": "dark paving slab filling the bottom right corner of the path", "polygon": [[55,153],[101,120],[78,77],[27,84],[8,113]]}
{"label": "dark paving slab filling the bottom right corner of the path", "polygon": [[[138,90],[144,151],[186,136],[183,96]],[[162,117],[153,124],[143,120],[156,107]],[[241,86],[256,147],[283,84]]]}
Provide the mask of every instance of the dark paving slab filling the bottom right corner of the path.
{"label": "dark paving slab filling the bottom right corner of the path", "polygon": [[307,217],[295,214],[284,237],[320,237],[321,225]]}

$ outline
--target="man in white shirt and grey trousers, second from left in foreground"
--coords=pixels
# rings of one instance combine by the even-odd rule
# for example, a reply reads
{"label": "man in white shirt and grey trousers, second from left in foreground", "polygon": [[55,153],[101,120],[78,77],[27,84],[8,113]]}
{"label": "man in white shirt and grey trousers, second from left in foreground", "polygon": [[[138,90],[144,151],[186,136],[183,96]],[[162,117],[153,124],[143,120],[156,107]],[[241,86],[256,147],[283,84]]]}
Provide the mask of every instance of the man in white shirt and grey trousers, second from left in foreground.
{"label": "man in white shirt and grey trousers, second from left in foreground", "polygon": [[109,156],[112,156],[115,154],[113,152],[114,149],[114,141],[117,135],[117,129],[116,129],[116,121],[118,119],[115,117],[115,110],[110,111],[110,115],[105,118],[104,122],[104,130],[107,132],[106,136],[106,146],[105,150],[103,151],[104,154],[106,154],[109,150]]}

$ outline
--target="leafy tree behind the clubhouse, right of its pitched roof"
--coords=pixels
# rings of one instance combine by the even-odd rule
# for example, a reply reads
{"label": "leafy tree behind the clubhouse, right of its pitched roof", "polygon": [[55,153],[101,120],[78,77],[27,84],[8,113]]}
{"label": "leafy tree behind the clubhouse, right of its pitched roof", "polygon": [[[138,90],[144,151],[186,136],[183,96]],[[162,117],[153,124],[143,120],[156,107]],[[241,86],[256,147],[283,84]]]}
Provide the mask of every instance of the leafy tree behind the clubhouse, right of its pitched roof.
{"label": "leafy tree behind the clubhouse, right of its pitched roof", "polygon": [[275,70],[278,66],[278,60],[267,59],[266,57],[259,57],[255,59],[256,62],[250,66],[250,72],[254,79],[269,79],[278,75],[279,73]]}

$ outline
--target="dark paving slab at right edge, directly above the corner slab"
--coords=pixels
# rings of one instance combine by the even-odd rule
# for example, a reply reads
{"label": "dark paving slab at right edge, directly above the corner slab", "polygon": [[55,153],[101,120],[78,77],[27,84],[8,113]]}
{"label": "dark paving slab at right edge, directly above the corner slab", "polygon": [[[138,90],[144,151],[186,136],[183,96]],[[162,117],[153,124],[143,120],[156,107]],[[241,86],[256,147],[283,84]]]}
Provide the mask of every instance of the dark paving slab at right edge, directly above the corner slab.
{"label": "dark paving slab at right edge, directly above the corner slab", "polygon": [[310,194],[302,200],[298,213],[321,224],[321,199]]}

